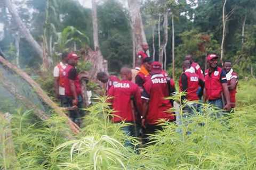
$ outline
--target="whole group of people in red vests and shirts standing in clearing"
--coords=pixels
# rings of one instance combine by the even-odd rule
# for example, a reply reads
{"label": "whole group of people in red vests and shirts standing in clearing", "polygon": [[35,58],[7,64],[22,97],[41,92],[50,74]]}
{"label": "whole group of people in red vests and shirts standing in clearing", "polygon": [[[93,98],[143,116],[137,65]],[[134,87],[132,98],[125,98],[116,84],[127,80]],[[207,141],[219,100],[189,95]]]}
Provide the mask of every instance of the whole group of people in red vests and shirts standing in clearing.
{"label": "whole group of people in red vests and shirts standing in clearing", "polygon": [[[162,130],[159,126],[162,120],[175,121],[175,113],[171,111],[173,100],[168,97],[173,96],[176,90],[173,79],[162,69],[162,64],[147,55],[148,45],[143,44],[142,49],[137,54],[137,67],[123,67],[121,79],[105,72],[99,72],[97,78],[106,84],[108,102],[115,111],[112,121],[129,123],[123,128],[124,133],[132,137],[142,135],[142,142],[147,144],[148,134]],[[75,68],[78,56],[64,53],[62,57],[62,62],[54,68],[55,92],[63,107],[79,107],[82,102],[81,85]],[[227,112],[234,109],[238,75],[231,69],[230,61],[219,67],[218,58],[216,54],[207,56],[209,69],[203,74],[191,55],[185,57],[179,79],[179,91],[186,92],[182,101],[186,99],[193,103],[203,98],[204,102]],[[185,112],[191,112],[191,109],[187,108]],[[82,115],[70,113],[74,122]],[[132,146],[132,143],[126,141],[126,146]]]}

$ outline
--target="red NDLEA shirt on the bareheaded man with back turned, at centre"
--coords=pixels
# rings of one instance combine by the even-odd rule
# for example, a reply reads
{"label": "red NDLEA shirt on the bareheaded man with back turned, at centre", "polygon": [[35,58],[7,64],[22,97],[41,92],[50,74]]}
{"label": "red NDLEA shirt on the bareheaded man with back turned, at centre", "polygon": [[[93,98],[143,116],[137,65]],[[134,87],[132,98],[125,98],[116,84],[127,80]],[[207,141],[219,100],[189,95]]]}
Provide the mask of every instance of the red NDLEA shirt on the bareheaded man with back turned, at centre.
{"label": "red NDLEA shirt on the bareheaded man with back turned, at centre", "polygon": [[[114,117],[112,118],[113,122],[133,122],[135,121],[135,115],[132,108],[132,97],[135,100],[136,108],[138,112],[142,111],[141,103],[141,92],[137,84],[128,81],[121,80],[115,83],[110,89],[108,96],[114,97],[109,100],[113,105]],[[116,115],[116,116],[115,116]]]}

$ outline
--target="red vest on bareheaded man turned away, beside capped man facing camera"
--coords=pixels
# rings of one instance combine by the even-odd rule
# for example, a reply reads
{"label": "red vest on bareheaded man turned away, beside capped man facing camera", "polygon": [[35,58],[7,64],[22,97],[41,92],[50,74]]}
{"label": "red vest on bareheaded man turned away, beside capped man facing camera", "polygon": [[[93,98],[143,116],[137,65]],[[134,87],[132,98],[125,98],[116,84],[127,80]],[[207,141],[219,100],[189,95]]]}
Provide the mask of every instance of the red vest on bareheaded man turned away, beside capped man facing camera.
{"label": "red vest on bareheaded man turned away, beside capped man facing camera", "polygon": [[[196,94],[199,88],[199,76],[196,73],[191,73],[191,72],[184,72],[184,74],[187,76],[187,81],[188,81],[186,99],[189,101],[199,100],[199,97]],[[179,80],[179,85],[180,85],[180,92],[181,92],[182,91],[181,76]]]}

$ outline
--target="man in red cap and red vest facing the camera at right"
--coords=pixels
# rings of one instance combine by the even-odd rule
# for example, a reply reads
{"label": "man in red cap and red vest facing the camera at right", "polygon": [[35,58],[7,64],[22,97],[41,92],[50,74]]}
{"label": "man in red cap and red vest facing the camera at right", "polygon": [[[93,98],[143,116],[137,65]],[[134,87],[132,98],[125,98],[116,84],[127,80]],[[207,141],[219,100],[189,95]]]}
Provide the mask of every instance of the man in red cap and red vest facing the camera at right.
{"label": "man in red cap and red vest facing the camera at right", "polygon": [[209,104],[215,105],[220,109],[230,111],[226,72],[221,67],[218,67],[218,58],[215,54],[209,54],[206,58],[209,69],[206,70],[204,77],[204,100],[208,100]]}

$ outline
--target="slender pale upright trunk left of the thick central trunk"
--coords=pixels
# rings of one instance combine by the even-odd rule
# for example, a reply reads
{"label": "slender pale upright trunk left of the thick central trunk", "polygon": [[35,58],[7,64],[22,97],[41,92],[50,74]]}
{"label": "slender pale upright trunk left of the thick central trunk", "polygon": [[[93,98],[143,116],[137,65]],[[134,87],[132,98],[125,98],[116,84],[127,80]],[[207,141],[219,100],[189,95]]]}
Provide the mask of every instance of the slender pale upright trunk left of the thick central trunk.
{"label": "slender pale upright trunk left of the thick central trunk", "polygon": [[92,0],[92,25],[93,25],[93,44],[94,44],[94,51],[97,53],[97,65],[95,70],[98,72],[107,70],[104,69],[103,66],[103,56],[100,51],[100,44],[99,44],[99,30],[98,30],[98,18],[97,18],[97,5],[95,0]]}

